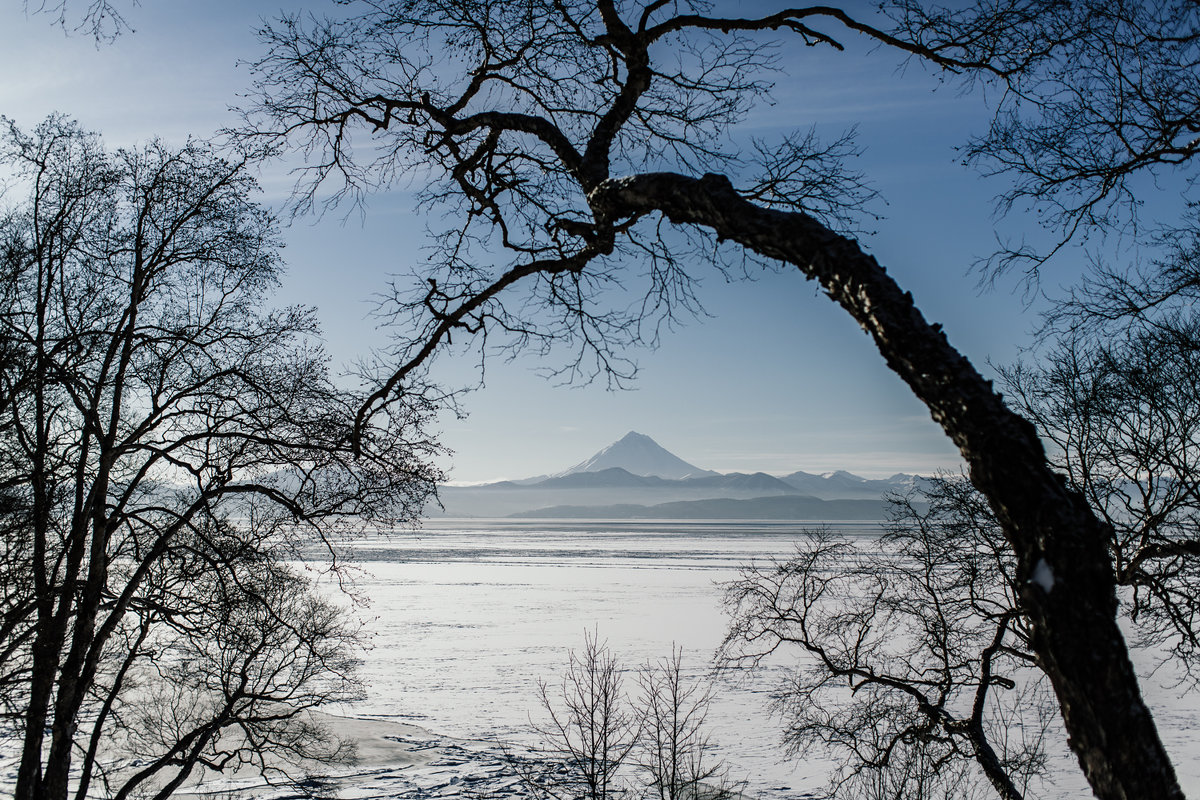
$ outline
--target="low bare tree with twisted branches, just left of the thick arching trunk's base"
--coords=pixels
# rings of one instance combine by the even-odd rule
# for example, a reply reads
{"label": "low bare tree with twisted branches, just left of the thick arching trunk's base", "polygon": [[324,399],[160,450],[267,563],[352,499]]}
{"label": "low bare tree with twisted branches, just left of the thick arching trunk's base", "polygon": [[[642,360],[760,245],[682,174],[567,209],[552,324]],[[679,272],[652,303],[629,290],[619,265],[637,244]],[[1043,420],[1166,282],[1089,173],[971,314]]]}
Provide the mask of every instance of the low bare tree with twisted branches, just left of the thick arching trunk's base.
{"label": "low bare tree with twisted branches, just left of the thick arching trunk's base", "polygon": [[990,783],[1019,800],[1042,776],[1049,720],[1031,702],[1045,686],[1012,552],[961,479],[895,497],[889,513],[877,542],[812,531],[793,558],[745,567],[726,587],[721,662],[799,650],[776,696],[785,741],[840,764],[834,796],[972,796]]}

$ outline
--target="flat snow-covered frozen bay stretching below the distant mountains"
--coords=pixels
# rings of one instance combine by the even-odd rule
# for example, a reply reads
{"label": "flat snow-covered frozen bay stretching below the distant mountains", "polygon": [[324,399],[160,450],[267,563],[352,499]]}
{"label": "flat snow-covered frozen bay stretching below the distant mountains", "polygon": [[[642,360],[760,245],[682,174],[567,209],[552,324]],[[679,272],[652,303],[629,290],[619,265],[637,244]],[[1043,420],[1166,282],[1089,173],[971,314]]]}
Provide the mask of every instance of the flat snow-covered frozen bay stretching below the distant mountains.
{"label": "flat snow-covered frozen bay stretching below the distant mountains", "polygon": [[[805,527],[779,522],[436,521],[416,533],[355,543],[358,589],[373,646],[368,698],[340,714],[413,723],[443,736],[529,741],[538,681],[553,685],[571,648],[596,631],[636,667],[684,649],[688,670],[708,674],[725,634],[720,583],[755,560],[787,558]],[[869,547],[878,528],[835,523]],[[769,693],[784,668],[751,680],[722,678],[710,730],[750,794],[811,796],[827,765],[780,748]],[[630,674],[630,690],[632,674]],[[1159,674],[1147,699],[1186,790],[1200,789],[1195,696]],[[1087,793],[1068,754],[1048,798]]]}

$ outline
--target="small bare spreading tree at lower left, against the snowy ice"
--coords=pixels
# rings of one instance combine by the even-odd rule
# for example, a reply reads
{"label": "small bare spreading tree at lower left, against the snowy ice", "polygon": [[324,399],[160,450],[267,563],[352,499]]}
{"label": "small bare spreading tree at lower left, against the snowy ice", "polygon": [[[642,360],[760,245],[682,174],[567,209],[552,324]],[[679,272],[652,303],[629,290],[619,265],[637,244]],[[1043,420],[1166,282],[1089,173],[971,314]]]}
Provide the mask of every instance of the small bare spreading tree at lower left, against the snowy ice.
{"label": "small bare spreading tree at lower left, against the snowy ice", "polygon": [[[221,585],[238,571],[238,584]],[[289,766],[353,756],[350,742],[306,711],[361,697],[358,627],[274,559],[238,559],[223,572],[184,573],[200,579],[187,593],[194,624],[160,625],[140,643],[139,655],[148,643],[155,648],[154,666],[127,673],[126,720],[106,733],[104,747],[124,760],[97,763],[97,739],[90,742],[85,768],[102,770],[118,800],[169,796],[198,766],[222,772],[251,765],[268,778],[287,778]]]}

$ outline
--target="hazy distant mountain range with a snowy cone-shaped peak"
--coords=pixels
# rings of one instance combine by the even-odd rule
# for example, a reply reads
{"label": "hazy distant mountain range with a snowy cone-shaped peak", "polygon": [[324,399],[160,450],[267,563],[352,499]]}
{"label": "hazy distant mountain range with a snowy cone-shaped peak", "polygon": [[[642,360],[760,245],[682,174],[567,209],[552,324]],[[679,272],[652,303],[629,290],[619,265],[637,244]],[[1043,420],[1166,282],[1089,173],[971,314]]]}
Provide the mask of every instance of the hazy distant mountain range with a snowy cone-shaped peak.
{"label": "hazy distant mountain range with a snowy cone-shaped peak", "polygon": [[442,487],[446,516],[613,519],[881,519],[883,495],[922,479],[868,480],[851,473],[720,474],[689,464],[630,432],[550,476]]}

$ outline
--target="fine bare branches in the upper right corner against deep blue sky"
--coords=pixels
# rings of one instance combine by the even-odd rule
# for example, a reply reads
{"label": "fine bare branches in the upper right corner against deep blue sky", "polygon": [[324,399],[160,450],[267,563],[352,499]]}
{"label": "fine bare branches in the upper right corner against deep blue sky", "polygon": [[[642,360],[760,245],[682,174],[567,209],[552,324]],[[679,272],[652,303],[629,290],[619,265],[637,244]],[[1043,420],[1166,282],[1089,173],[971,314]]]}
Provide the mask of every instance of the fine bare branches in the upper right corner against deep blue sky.
{"label": "fine bare branches in the upper right corner against deep blue sky", "polygon": [[1002,210],[1031,205],[1055,234],[1049,248],[1018,242],[995,263],[1031,275],[1072,240],[1136,236],[1139,176],[1187,175],[1200,152],[1195,4],[1063,5],[1070,35],[1009,84],[990,130],[966,151],[985,172],[1013,178]]}

